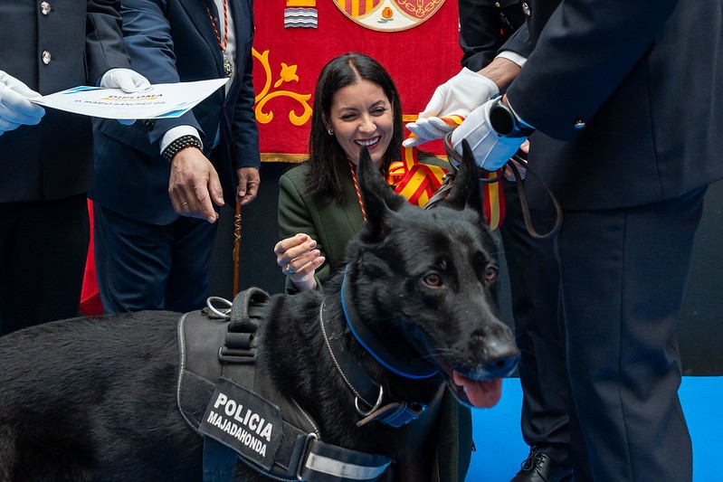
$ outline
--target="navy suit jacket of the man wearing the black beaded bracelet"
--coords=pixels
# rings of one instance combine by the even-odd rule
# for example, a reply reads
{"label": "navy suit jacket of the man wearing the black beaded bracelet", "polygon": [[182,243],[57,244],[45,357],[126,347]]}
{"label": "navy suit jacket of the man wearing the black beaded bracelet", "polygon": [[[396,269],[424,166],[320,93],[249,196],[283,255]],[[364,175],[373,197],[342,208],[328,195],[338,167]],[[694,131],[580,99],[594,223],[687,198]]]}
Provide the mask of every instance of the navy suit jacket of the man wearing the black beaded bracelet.
{"label": "navy suit jacket of the man wearing the black beaded bracelet", "polygon": [[[97,187],[90,197],[96,203],[139,221],[176,220],[168,197],[170,170],[160,156],[161,139],[176,126],[201,132],[205,155],[214,162],[229,205],[235,203],[236,169],[261,165],[253,112],[252,0],[228,0],[228,5],[236,44],[236,72],[228,95],[224,88],[216,90],[180,118],[138,120],[133,126],[94,122]],[[133,68],[151,83],[224,77],[205,0],[123,0],[121,14]]]}

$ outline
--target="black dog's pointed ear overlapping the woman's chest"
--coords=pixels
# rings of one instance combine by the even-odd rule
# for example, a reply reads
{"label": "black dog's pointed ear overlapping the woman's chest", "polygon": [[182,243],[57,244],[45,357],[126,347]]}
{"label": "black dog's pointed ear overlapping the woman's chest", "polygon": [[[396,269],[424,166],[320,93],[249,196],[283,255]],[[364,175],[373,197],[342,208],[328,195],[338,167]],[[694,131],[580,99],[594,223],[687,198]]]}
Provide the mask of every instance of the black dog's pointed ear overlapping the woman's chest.
{"label": "black dog's pointed ear overlapping the woman's chest", "polygon": [[377,234],[383,232],[385,213],[398,211],[407,203],[406,199],[395,194],[392,187],[386,184],[384,176],[374,165],[366,147],[362,147],[359,153],[357,181],[366,211],[367,229],[375,230]]}

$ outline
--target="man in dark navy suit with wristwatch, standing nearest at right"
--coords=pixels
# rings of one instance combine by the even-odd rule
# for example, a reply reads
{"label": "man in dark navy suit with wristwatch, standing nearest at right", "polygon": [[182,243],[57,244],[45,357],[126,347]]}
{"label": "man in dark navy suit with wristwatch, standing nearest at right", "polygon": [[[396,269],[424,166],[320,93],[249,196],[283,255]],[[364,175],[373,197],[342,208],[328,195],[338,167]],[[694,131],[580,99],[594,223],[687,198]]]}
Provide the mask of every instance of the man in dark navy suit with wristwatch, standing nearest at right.
{"label": "man in dark navy suit with wristwatch, standing nearest at right", "polygon": [[576,481],[690,481],[675,331],[703,195],[723,176],[723,4],[529,0],[527,10],[527,63],[487,72],[506,95],[471,110],[452,142],[471,139],[493,170],[537,129],[529,164],[564,208]]}

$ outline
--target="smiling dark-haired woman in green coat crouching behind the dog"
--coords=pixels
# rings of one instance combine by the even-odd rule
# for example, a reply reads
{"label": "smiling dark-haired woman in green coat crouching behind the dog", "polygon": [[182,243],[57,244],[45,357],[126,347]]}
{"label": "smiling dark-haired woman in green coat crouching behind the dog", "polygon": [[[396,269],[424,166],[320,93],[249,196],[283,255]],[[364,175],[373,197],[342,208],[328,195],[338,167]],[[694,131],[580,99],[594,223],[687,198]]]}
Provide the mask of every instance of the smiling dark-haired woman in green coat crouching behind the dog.
{"label": "smiling dark-haired woman in green coat crouching behind the dog", "polygon": [[[290,292],[319,288],[343,258],[347,242],[361,231],[365,213],[356,169],[362,146],[394,184],[415,175],[420,186],[397,185],[400,194],[418,193],[425,180],[430,186],[441,183],[445,163],[416,150],[403,151],[403,129],[399,92],[379,62],[347,53],[322,69],[314,94],[309,160],[280,180],[282,241],[275,252]],[[390,166],[394,166],[391,176]],[[413,171],[414,175],[405,175]]]}

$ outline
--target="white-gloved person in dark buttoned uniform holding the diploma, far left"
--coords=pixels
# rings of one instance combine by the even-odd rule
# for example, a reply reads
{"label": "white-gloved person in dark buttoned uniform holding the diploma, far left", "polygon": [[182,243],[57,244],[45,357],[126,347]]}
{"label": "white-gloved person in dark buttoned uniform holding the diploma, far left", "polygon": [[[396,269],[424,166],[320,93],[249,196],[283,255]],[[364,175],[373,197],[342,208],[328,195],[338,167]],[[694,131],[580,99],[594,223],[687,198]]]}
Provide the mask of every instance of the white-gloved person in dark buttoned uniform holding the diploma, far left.
{"label": "white-gloved person in dark buttoned uniform holding the diploma, far left", "polygon": [[28,99],[147,84],[128,70],[118,8],[118,0],[0,2],[0,335],[79,313],[90,118]]}

